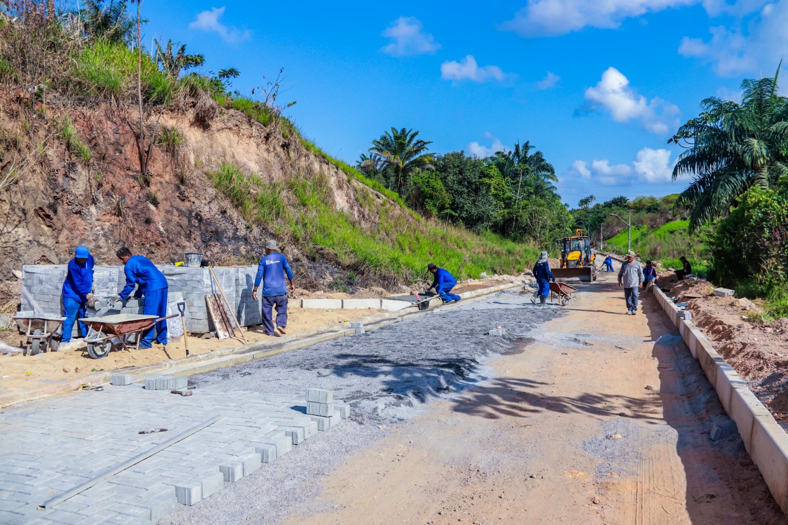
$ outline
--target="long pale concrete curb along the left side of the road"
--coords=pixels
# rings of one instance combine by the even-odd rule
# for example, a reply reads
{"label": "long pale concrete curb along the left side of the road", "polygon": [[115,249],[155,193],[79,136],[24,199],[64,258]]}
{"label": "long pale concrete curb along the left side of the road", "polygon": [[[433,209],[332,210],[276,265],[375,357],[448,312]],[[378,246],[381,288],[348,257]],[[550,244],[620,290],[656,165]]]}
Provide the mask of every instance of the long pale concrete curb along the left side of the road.
{"label": "long pale concrete curb along the left side of the road", "polygon": [[[481,296],[487,296],[505,289],[515,288],[519,285],[519,283],[507,283],[506,285],[463,292],[458,295],[463,297],[463,300],[474,302],[474,300]],[[436,298],[435,301],[430,301],[429,306],[435,306],[433,303],[440,304],[440,298]],[[375,330],[376,328],[382,328],[383,326],[388,326],[395,322],[402,322],[408,318],[420,317],[435,311],[414,311],[414,307],[408,307],[404,310],[410,310],[410,312],[403,313],[402,310],[392,311],[385,314],[370,315],[364,318],[355,319],[354,321],[363,322],[366,330]],[[65,382],[53,385],[44,385],[35,389],[2,394],[0,395],[0,408],[6,408],[12,404],[31,401],[41,397],[73,392],[78,389],[80,385],[84,385],[85,383],[91,383],[91,385],[107,384],[112,380],[114,374],[132,374],[134,376],[134,381],[139,381],[152,375],[161,375],[162,372],[168,375],[205,374],[206,372],[218,370],[220,368],[234,367],[241,363],[248,363],[252,359],[264,359],[283,352],[292,352],[293,350],[299,350],[300,348],[306,348],[313,344],[330,341],[354,333],[355,330],[350,328],[349,322],[338,322],[314,330],[307,330],[306,332],[277,337],[277,339],[274,340],[257,341],[255,343],[242,344],[232,348],[221,348],[214,352],[195,354],[194,356],[162,361],[160,363],[151,363],[139,367],[106,370],[81,378],[69,379]],[[171,346],[173,346],[173,348],[179,348],[178,343],[172,344]],[[100,361],[97,360],[97,363],[100,363]]]}

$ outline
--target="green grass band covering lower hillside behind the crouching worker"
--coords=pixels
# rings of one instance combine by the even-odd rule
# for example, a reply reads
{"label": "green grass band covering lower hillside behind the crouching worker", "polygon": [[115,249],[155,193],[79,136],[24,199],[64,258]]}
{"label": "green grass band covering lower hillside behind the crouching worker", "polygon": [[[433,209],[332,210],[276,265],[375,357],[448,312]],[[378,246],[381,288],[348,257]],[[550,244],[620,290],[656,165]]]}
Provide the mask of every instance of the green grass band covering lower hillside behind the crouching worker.
{"label": "green grass band covering lower hillside behind the crouching worker", "polygon": [[[307,255],[329,250],[340,266],[382,281],[427,278],[430,261],[466,278],[481,272],[519,272],[537,258],[535,248],[492,233],[478,236],[453,226],[444,230],[414,222],[392,203],[377,207],[377,226],[365,228],[347,212],[336,210],[322,173],[267,184],[223,164],[208,175],[247,222],[296,241]],[[286,195],[292,195],[291,202]]]}

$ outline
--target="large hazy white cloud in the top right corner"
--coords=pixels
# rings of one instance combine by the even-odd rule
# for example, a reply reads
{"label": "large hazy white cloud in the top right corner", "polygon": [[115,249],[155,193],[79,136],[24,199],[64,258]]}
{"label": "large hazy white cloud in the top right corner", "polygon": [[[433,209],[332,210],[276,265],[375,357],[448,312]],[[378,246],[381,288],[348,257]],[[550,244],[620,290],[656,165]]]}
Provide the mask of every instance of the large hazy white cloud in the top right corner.
{"label": "large hazy white cloud in the top right corner", "polygon": [[[760,7],[763,3],[752,0],[747,6]],[[738,13],[743,15],[747,10]],[[788,0],[763,6],[745,26],[746,32],[725,26],[709,28],[711,38],[707,40],[685,36],[678,53],[711,63],[719,76],[773,74],[788,51]]]}

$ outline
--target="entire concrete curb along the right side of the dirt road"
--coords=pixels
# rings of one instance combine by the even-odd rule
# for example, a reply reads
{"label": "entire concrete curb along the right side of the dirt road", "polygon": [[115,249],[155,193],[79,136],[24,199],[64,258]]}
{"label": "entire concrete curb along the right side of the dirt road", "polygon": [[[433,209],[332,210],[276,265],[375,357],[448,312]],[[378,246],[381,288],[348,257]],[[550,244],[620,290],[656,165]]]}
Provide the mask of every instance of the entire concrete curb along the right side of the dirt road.
{"label": "entire concrete curb along the right side of the dirt road", "polygon": [[730,419],[736,423],[745,450],[756,464],[782,512],[788,513],[788,434],[758,400],[733,367],[720,356],[692,321],[682,318],[665,292],[653,288],[660,306],[681,333],[689,352],[701,363],[708,382]]}

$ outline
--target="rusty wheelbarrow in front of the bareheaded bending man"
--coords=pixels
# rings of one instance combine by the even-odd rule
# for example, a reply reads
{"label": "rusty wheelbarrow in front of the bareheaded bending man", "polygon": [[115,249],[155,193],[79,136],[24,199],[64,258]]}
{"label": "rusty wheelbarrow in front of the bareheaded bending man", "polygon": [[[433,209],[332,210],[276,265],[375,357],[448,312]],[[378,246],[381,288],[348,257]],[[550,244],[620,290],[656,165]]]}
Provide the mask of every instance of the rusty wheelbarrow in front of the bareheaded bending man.
{"label": "rusty wheelbarrow in front of the bareheaded bending man", "polygon": [[93,359],[106,357],[113,348],[113,339],[121,341],[122,349],[128,350],[126,337],[136,335],[136,350],[139,350],[139,334],[154,326],[159,321],[177,317],[179,314],[158,317],[158,315],[116,314],[104,317],[87,317],[80,319],[93,333],[84,338],[87,343],[87,354]]}

